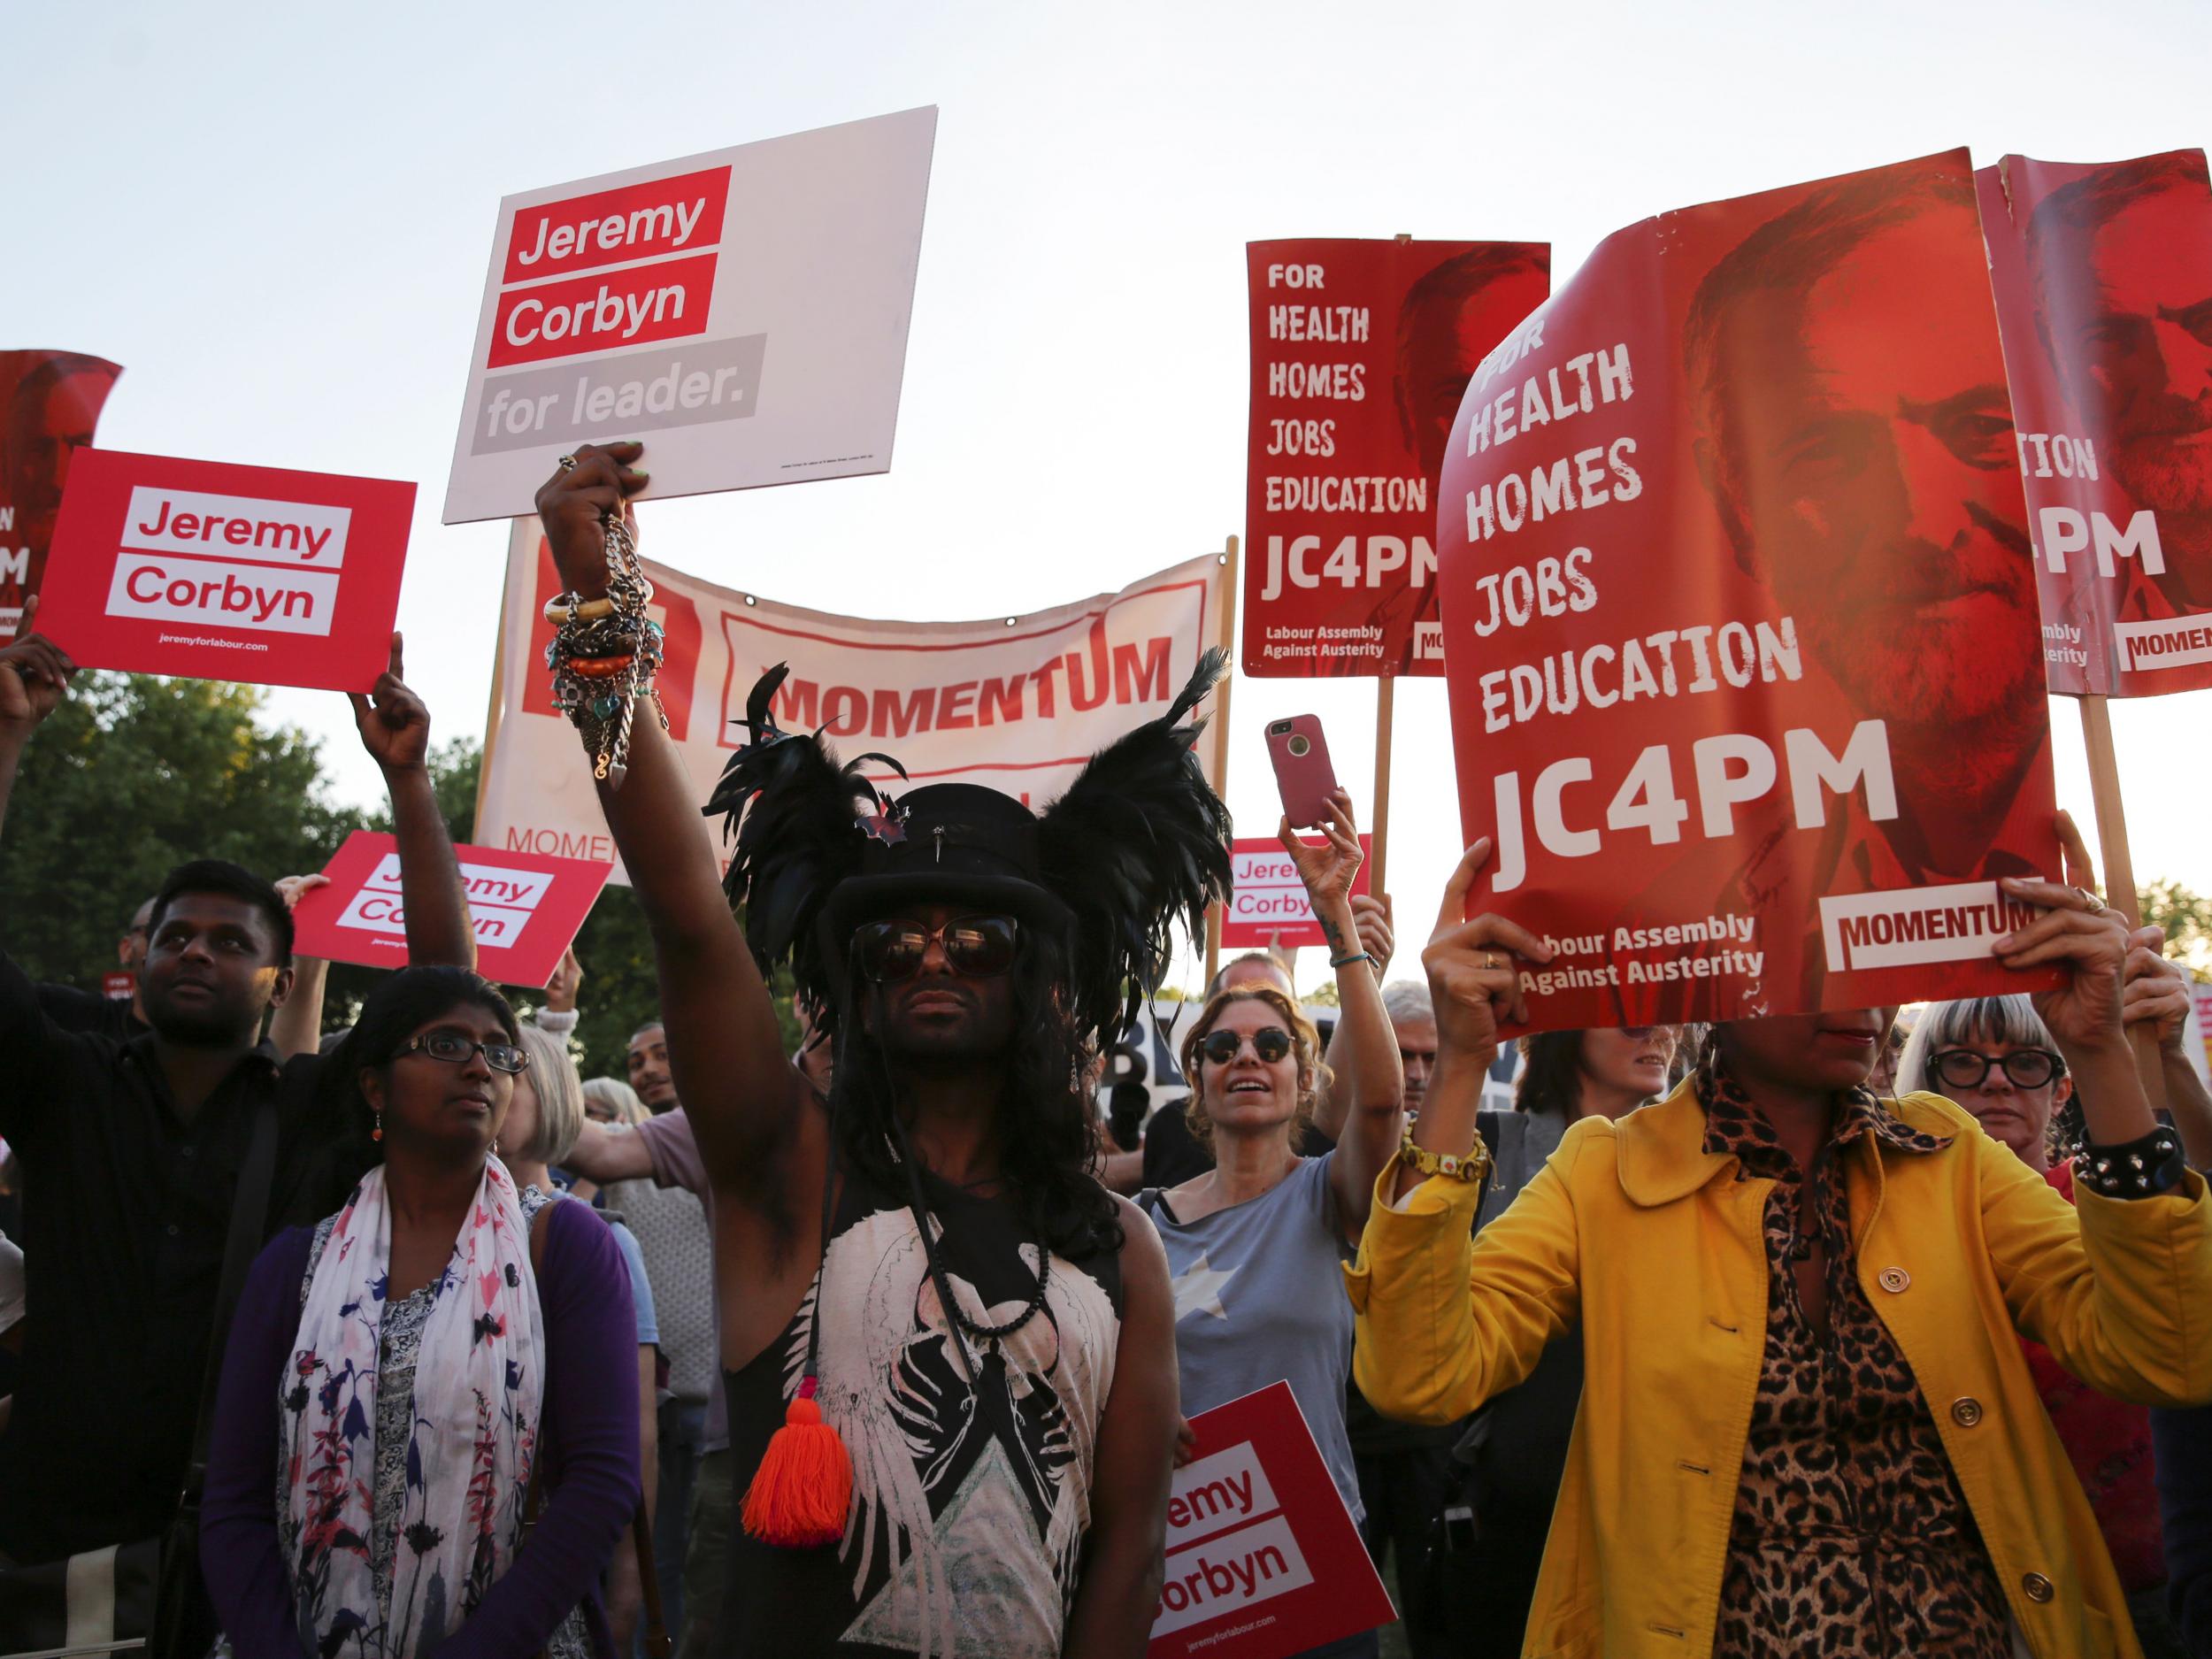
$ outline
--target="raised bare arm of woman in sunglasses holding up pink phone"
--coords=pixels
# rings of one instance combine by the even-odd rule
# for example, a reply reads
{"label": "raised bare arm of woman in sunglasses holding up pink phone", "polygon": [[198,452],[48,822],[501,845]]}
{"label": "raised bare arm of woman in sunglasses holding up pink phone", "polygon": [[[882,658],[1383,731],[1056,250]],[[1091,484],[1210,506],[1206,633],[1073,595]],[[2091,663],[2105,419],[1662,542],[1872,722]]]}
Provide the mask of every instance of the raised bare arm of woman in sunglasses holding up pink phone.
{"label": "raised bare arm of woman in sunglasses holding up pink phone", "polygon": [[1398,1066],[1398,1035],[1383,1009],[1383,987],[1374,962],[1360,945],[1358,920],[1352,914],[1352,883],[1360,874],[1360,834],[1352,818],[1352,796],[1329,794],[1329,821],[1321,827],[1325,841],[1305,845],[1283,818],[1276,832],[1283,852],[1298,869],[1314,902],[1314,920],[1329,942],[1329,967],[1336,971],[1336,1035],[1349,1060],[1347,1077],[1332,1088],[1338,1097],[1343,1128],[1336,1157],[1329,1161],[1329,1194],[1345,1237],[1358,1241],[1374,1201],[1376,1175],[1398,1150],[1398,1108],[1405,1099],[1405,1071]]}

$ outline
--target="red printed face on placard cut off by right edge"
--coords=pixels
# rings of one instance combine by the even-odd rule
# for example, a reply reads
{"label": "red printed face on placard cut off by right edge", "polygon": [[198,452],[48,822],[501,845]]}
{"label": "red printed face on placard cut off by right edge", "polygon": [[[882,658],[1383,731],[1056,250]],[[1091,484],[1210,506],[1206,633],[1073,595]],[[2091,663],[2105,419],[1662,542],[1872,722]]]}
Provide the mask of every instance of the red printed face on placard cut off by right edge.
{"label": "red printed face on placard cut off by right edge", "polygon": [[[2028,219],[2035,327],[2166,568],[2124,617],[2212,608],[2212,186],[2201,150],[2097,168]],[[2157,595],[2157,597],[2152,597]]]}

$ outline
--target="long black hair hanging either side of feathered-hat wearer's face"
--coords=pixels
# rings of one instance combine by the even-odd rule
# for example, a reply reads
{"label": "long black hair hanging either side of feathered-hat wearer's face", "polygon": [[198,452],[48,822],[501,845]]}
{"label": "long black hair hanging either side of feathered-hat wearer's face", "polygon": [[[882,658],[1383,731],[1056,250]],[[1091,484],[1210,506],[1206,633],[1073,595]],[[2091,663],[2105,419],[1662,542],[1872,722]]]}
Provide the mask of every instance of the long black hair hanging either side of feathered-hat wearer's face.
{"label": "long black hair hanging either side of feathered-hat wearer's face", "polygon": [[[1121,1214],[1091,1175],[1095,1159],[1091,1095],[1084,1073],[1093,1044],[1068,1020],[1057,987],[1068,975],[1068,947],[1060,936],[1024,927],[1009,989],[1013,1031],[1006,1037],[1002,1084],[1000,1175],[1031,1234],[1068,1261],[1121,1248]],[[905,1190],[894,1161],[894,1062],[863,1009],[874,987],[852,969],[849,1011],[836,1029],[830,1073],[830,1121],[845,1168],[889,1192]],[[880,1004],[878,1004],[880,1006]]]}

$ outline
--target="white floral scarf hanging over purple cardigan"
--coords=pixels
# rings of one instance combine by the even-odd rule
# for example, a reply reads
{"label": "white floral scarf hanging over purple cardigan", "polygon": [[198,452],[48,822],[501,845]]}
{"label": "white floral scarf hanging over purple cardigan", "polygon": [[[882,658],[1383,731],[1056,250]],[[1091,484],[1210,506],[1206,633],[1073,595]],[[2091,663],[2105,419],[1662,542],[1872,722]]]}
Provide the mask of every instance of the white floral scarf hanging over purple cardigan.
{"label": "white floral scarf hanging over purple cardigan", "polygon": [[493,1157],[422,1329],[407,1513],[394,1528],[389,1606],[378,1606],[369,1540],[389,1256],[378,1166],[332,1223],[283,1378],[292,1444],[279,1533],[301,1644],[323,1659],[434,1650],[478,1608],[522,1542],[544,1396],[544,1318],[515,1183]]}

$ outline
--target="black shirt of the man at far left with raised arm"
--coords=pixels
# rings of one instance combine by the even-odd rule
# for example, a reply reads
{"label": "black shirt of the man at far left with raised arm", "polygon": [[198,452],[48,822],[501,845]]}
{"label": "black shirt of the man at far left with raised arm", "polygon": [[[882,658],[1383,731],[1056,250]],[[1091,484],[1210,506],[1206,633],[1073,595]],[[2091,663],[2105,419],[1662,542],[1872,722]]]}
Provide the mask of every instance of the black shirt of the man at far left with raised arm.
{"label": "black shirt of the man at far left with raised arm", "polygon": [[24,1170],[27,1276],[22,1378],[0,1438],[0,1553],[42,1562],[164,1526],[190,1458],[254,1110],[276,1102],[268,1237],[316,1208],[332,1179],[336,1113],[316,1110],[321,1071],[319,1055],[279,1066],[261,1044],[184,1121],[150,1033],[64,1031],[0,953],[0,1137]]}

